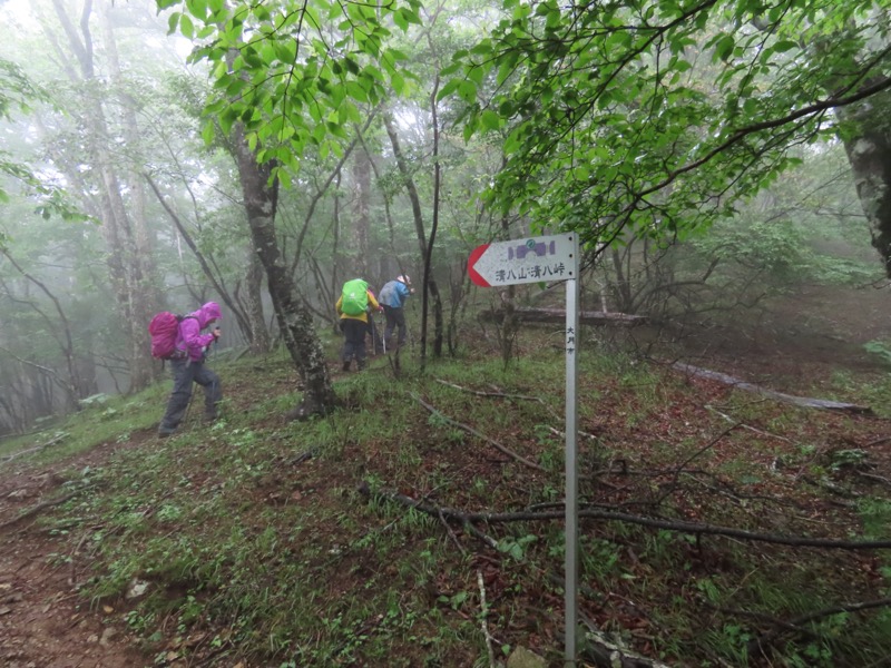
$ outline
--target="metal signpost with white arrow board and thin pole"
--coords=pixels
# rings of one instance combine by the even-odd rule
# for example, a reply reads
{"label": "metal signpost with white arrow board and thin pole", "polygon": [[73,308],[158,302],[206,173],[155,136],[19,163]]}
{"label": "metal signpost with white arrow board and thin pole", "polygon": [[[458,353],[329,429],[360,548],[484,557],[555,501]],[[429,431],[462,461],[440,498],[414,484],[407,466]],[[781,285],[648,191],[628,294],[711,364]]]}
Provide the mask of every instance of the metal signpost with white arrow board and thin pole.
{"label": "metal signpost with white arrow board and thin pole", "polygon": [[468,259],[482,287],[566,281],[566,657],[576,666],[578,629],[578,236],[560,234],[483,244]]}

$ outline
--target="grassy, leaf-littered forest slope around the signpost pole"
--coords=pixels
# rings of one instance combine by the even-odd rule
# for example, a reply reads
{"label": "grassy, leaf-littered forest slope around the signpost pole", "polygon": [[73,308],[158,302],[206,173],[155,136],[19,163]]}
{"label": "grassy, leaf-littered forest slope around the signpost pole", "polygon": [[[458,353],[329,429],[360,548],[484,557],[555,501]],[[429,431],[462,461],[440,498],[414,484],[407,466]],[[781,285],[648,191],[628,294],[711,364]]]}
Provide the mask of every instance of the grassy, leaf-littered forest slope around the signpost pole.
{"label": "grassy, leaf-littered forest slope around the signpost pole", "polygon": [[[309,422],[284,420],[301,397],[285,360],[217,370],[226,406],[212,426],[196,415],[157,439],[161,384],[87,407],[59,428],[61,449],[32,455],[116,444],[67,471],[77,493],[42,522],[58,554],[90,564],[84,597],[126,626],[146,665],[489,666],[490,648],[503,661],[517,646],[561,665],[560,352],[507,369],[497,356],[428,361],[424,374],[408,354],[399,374],[375,358],[336,379],[341,409]],[[881,389],[846,377],[839,392]],[[874,423],[616,352],[582,355],[578,396],[580,505],[606,513],[581,520],[579,541],[580,610],[597,633],[672,666],[891,654],[887,608],[843,609],[888,596],[887,552],[635,520],[888,539],[887,490],[851,477],[873,453],[840,446]],[[468,527],[452,511],[532,514]],[[598,636],[582,638],[587,652]]]}

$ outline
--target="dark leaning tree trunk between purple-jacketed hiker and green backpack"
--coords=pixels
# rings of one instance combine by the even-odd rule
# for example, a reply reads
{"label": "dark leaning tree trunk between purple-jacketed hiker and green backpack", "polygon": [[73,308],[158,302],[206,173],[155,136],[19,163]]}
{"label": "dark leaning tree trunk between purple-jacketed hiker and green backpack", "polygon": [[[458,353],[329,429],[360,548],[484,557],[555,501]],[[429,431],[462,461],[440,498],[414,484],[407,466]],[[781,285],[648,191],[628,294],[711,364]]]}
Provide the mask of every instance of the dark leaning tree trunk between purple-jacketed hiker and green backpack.
{"label": "dark leaning tree trunk between purple-jacketed hiker and green backpack", "polygon": [[337,396],[331,384],[325,352],[313,327],[312,314],[300,298],[275,238],[276,190],[270,186],[272,165],[257,164],[241,126],[236,126],[233,134],[251,237],[266,269],[282,338],[303,382],[303,402],[288,418],[298,420],[329,413],[336,406]]}

